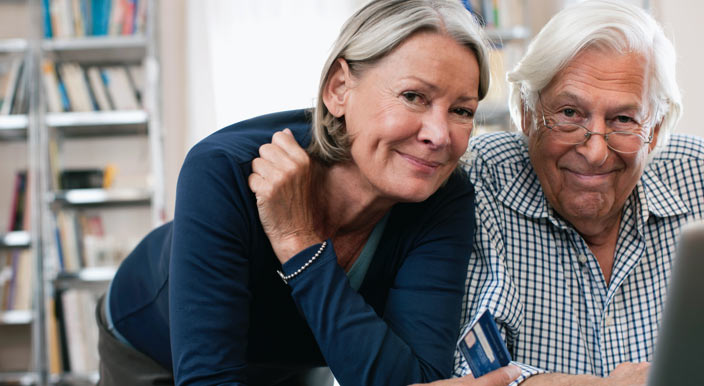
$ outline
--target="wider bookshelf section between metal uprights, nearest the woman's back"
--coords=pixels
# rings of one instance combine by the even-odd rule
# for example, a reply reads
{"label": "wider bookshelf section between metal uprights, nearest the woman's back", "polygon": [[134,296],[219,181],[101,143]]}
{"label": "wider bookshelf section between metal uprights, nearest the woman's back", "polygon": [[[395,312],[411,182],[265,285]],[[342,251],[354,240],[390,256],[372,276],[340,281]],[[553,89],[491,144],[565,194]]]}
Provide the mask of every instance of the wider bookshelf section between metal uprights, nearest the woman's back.
{"label": "wider bookshelf section between metal uprights, nearest the woman's back", "polygon": [[[95,4],[104,1],[93,0]],[[64,82],[62,98],[70,100],[52,106],[51,82],[43,82],[45,292],[54,305],[48,325],[59,330],[48,342],[52,384],[95,384],[95,302],[119,261],[164,221],[159,60],[153,28],[158,2],[132,4],[132,22],[143,20],[131,32],[77,36],[81,34],[74,31],[41,42],[43,70],[51,63]],[[114,16],[115,9],[110,11]],[[69,70],[81,76],[74,78]],[[97,74],[95,79],[91,72]],[[76,82],[85,82],[92,102],[88,108],[78,103]],[[120,85],[124,87],[118,89]],[[102,183],[74,181],[71,184],[83,185],[66,188],[67,172],[80,170],[99,173]],[[59,361],[52,358],[57,353]]]}

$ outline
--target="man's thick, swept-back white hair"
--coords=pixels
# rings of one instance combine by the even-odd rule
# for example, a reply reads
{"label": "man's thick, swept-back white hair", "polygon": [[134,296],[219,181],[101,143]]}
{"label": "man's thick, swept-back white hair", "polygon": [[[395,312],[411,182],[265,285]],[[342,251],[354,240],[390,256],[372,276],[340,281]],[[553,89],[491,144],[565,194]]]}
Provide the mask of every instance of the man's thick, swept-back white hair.
{"label": "man's thick, swept-back white hair", "polygon": [[[660,123],[657,148],[667,143],[682,114],[675,77],[675,48],[643,9],[623,2],[593,0],[557,13],[508,73],[511,119],[521,128],[524,109],[535,117],[538,92],[588,47],[639,53],[649,63],[649,123]],[[535,129],[535,119],[531,123]]]}

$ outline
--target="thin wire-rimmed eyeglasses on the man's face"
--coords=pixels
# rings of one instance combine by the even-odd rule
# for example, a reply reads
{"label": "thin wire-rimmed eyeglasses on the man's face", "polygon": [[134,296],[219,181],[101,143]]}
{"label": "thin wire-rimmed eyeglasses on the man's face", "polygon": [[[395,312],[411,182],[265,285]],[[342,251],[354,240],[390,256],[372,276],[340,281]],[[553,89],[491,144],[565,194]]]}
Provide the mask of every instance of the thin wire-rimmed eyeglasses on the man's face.
{"label": "thin wire-rimmed eyeglasses on the man's face", "polygon": [[[540,95],[538,96],[540,100]],[[540,104],[542,106],[542,100]],[[609,133],[597,133],[590,131],[586,127],[576,123],[561,123],[548,121],[545,112],[542,113],[543,126],[552,132],[553,138],[566,145],[581,145],[589,140],[593,135],[601,135],[606,141],[609,149],[619,153],[637,153],[645,144],[653,141],[652,132],[647,137],[643,135],[643,126],[637,122],[621,122],[621,130]],[[548,123],[550,122],[550,123]]]}

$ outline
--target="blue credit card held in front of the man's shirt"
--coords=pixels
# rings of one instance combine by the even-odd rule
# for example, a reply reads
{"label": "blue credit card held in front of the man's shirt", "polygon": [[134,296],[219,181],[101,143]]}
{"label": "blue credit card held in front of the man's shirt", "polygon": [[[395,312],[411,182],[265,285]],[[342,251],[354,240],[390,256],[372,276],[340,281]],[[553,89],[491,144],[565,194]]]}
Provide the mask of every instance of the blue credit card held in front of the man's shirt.
{"label": "blue credit card held in front of the man's shirt", "polygon": [[492,372],[511,362],[494,317],[485,310],[458,343],[474,378]]}

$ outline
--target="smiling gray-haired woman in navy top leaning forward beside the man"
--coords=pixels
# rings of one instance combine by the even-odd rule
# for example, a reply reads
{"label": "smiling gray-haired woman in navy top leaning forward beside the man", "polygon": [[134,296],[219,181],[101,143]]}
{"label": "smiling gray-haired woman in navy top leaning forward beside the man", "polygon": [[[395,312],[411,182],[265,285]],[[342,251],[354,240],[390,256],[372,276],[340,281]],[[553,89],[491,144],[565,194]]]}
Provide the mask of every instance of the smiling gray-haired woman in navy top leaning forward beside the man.
{"label": "smiling gray-haired woman in navy top leaning forward beside the man", "polygon": [[341,31],[312,124],[277,113],[196,145],[174,221],[99,309],[101,383],[450,376],[474,224],[457,164],[486,49],[459,2],[373,1]]}

